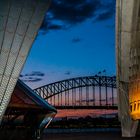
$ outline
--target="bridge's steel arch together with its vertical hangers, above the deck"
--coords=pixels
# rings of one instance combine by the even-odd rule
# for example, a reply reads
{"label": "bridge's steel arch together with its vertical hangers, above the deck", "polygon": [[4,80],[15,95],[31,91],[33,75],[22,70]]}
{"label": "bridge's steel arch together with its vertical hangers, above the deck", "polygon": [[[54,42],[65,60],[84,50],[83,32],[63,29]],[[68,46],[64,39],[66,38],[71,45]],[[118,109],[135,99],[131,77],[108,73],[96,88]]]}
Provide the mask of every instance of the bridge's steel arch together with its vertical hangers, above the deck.
{"label": "bridge's steel arch together with its vertical hangers, above the deck", "polygon": [[[77,77],[77,78],[71,78],[71,79],[66,79],[66,80],[62,80],[62,81],[58,81],[58,82],[55,82],[55,83],[51,83],[51,84],[48,84],[48,85],[44,85],[44,86],[41,86],[39,88],[36,88],[34,89],[34,91],[39,94],[42,98],[46,99],[46,100],[49,100],[50,98],[53,98],[55,99],[55,96],[61,93],[65,93],[67,94],[67,92],[69,92],[70,90],[72,90],[72,94],[76,94],[76,89],[79,88],[79,98],[82,98],[82,88],[85,87],[85,90],[86,90],[86,106],[85,108],[89,108],[89,87],[93,87],[93,90],[94,90],[94,95],[95,96],[95,87],[98,87],[98,91],[99,91],[99,105],[97,108],[100,108],[102,106],[102,87],[104,87],[104,90],[105,90],[105,105],[104,106],[105,108],[109,105],[108,105],[108,89],[107,88],[110,88],[111,89],[111,108],[113,106],[116,106],[115,102],[114,102],[114,88],[116,88],[116,77],[111,77],[111,76],[86,76],[86,77]],[[62,96],[62,95],[61,95]],[[73,97],[72,98],[76,98],[76,95],[72,95]],[[62,98],[62,97],[61,97]],[[68,97],[69,98],[69,97]],[[95,99],[95,97],[94,97]],[[62,99],[61,99],[62,100]],[[69,99],[68,99],[69,100]],[[76,99],[75,99],[76,100]],[[79,99],[80,100],[80,99]],[[69,102],[69,101],[68,101]],[[73,101],[72,101],[73,102]],[[79,101],[81,102],[81,101]],[[74,102],[73,102],[73,106],[74,106]],[[79,108],[82,107],[80,106],[81,103],[79,103]],[[54,105],[55,106],[55,105]],[[62,104],[61,104],[62,106]],[[95,104],[93,103],[91,108],[95,108]],[[68,107],[68,106],[67,106]],[[76,106],[78,108],[78,106]],[[60,108],[60,106],[56,107],[56,108]],[[68,107],[70,108],[70,107]],[[62,109],[62,107],[61,107]]]}

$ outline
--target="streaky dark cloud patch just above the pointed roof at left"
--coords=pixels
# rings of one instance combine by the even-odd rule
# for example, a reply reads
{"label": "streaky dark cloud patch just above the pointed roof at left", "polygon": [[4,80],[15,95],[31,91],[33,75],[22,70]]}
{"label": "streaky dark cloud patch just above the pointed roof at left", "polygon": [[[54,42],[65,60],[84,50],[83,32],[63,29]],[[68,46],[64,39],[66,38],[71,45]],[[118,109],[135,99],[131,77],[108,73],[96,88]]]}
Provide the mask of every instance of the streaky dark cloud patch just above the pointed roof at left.
{"label": "streaky dark cloud patch just above the pointed roof at left", "polygon": [[19,78],[23,82],[38,82],[43,80],[44,76],[45,74],[40,71],[32,71],[31,73],[21,74]]}

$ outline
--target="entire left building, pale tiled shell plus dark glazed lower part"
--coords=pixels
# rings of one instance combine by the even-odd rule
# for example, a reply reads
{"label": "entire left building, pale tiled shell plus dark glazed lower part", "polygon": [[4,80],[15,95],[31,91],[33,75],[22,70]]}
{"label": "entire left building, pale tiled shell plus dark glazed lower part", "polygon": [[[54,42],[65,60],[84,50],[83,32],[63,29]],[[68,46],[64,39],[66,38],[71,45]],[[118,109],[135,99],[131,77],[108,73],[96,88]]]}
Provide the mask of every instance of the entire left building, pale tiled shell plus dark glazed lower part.
{"label": "entire left building, pale tiled shell plus dark glazed lower part", "polygon": [[49,4],[0,0],[0,140],[39,139],[56,114],[24,83],[17,83]]}

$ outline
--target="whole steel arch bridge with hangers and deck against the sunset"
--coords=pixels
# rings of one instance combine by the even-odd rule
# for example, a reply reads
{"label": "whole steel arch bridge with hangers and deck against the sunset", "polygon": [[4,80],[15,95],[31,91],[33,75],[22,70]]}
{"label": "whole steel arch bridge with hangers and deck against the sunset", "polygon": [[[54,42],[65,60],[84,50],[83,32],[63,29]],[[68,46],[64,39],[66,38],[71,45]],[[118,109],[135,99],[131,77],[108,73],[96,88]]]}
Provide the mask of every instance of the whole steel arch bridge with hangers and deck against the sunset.
{"label": "whole steel arch bridge with hangers and deck against the sunset", "polygon": [[115,76],[66,79],[34,91],[57,109],[117,109]]}

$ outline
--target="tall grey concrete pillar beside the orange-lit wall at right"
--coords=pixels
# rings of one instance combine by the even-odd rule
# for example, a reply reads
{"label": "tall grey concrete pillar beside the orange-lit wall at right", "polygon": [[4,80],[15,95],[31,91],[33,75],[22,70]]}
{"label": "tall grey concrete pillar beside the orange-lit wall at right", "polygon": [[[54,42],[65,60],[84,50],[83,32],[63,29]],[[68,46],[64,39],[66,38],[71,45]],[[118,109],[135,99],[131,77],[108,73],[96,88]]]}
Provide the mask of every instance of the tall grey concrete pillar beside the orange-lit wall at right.
{"label": "tall grey concrete pillar beside the orange-lit wall at right", "polygon": [[[129,111],[130,51],[138,41],[140,0],[116,0],[116,56],[119,119],[122,136],[134,137],[138,121],[132,120]],[[140,38],[140,36],[138,36]],[[136,52],[137,53],[137,52]]]}

